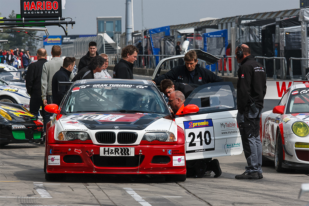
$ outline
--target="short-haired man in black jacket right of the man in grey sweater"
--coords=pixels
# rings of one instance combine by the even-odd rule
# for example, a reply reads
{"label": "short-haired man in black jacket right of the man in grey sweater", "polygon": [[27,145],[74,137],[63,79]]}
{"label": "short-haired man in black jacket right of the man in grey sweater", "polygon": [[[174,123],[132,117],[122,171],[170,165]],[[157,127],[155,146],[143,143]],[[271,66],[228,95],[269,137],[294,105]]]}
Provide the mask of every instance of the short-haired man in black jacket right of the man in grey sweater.
{"label": "short-haired man in black jacket right of the man in grey sweater", "polygon": [[63,97],[69,90],[68,85],[59,85],[59,82],[69,82],[70,75],[75,66],[75,57],[66,57],[63,60],[63,65],[54,74],[52,79],[52,93],[53,93],[53,103],[60,106]]}

